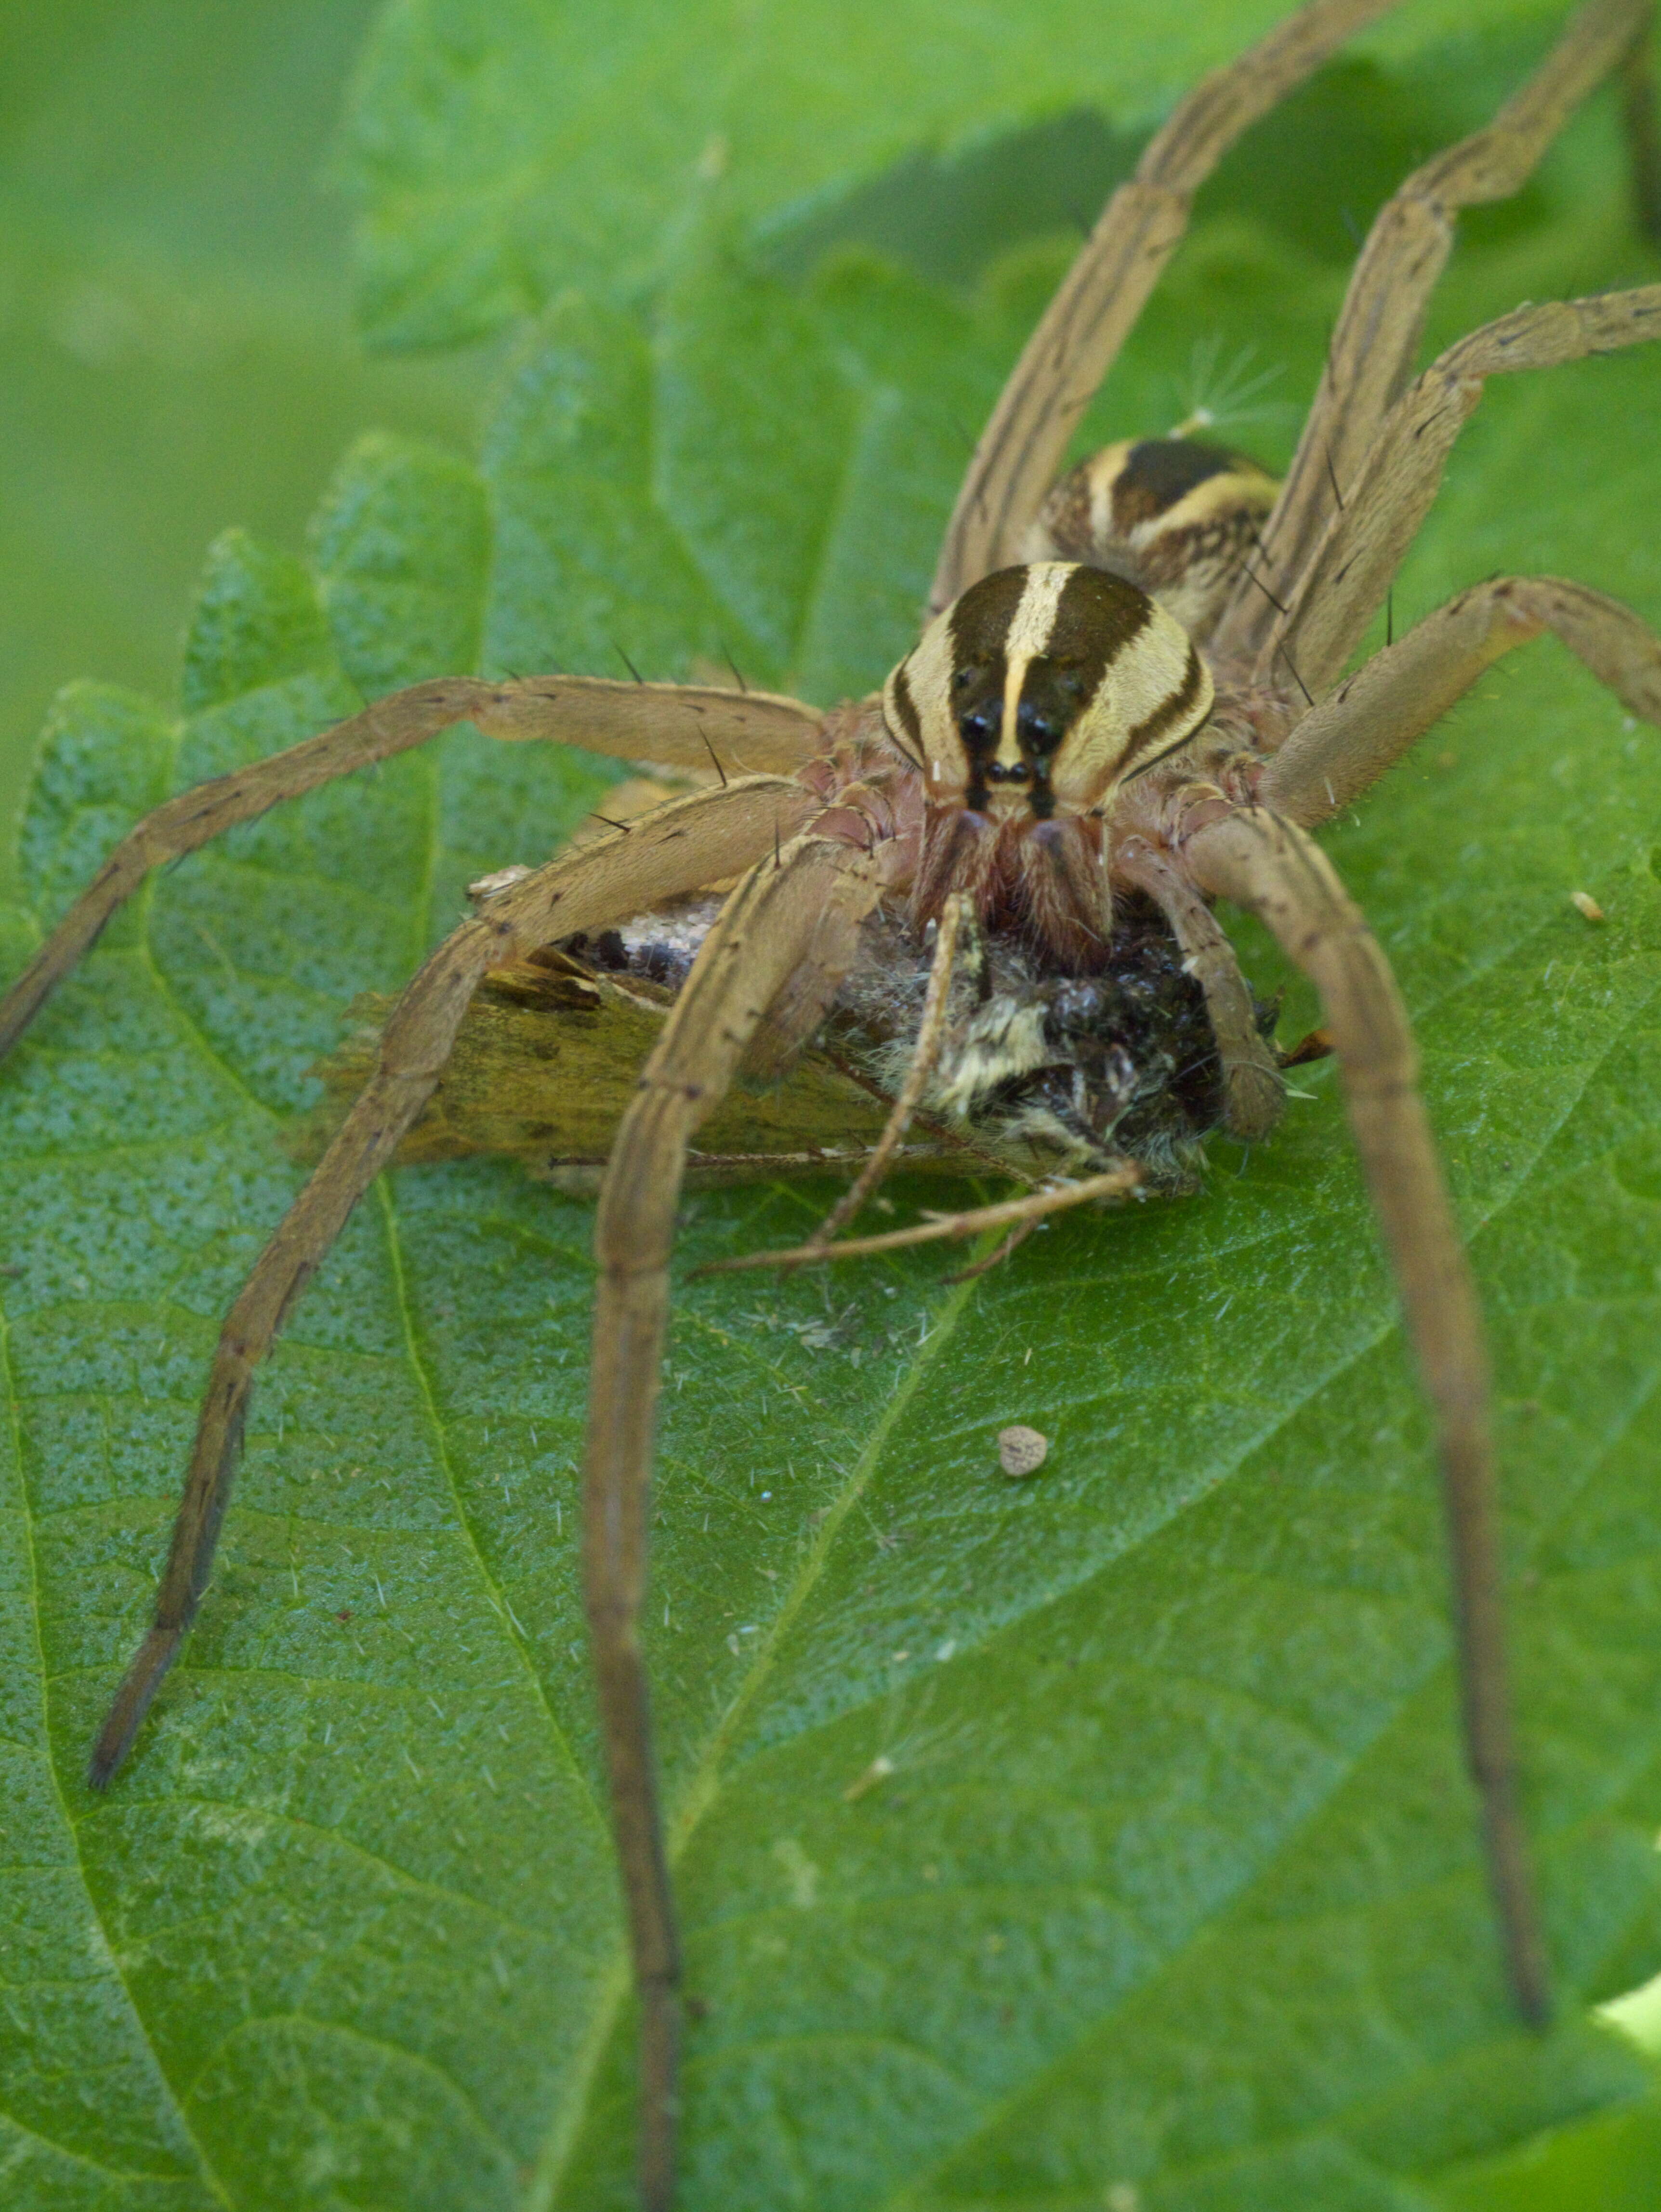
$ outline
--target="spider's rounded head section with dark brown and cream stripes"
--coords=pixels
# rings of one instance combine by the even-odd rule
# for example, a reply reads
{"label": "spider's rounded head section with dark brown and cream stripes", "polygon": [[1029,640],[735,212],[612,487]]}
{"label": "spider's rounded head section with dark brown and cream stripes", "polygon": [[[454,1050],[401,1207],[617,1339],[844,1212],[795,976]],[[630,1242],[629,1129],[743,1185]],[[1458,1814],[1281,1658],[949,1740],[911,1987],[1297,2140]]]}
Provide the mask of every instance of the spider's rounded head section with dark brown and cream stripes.
{"label": "spider's rounded head section with dark brown and cream stripes", "polygon": [[1077,562],[971,584],[882,692],[929,807],[1000,825],[1097,814],[1210,708],[1185,630],[1146,591]]}

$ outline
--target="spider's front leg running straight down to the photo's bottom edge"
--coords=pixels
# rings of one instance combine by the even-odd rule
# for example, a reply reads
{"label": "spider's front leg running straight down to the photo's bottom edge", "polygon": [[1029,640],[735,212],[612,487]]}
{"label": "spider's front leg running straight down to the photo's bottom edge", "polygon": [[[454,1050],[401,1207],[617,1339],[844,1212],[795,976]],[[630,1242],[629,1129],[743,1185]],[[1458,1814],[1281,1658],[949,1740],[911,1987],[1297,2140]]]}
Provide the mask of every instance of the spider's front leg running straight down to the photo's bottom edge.
{"label": "spider's front leg running straight down to the photo's bottom edge", "polygon": [[[825,1004],[858,956],[858,925],[896,880],[907,841],[803,836],[739,885],[703,940],[624,1115],[599,1192],[593,1380],[584,1469],[584,1597],[610,1772],[613,1832],[639,1993],[646,2212],[675,2194],[679,1942],[652,1772],[639,1644],[652,1427],[668,1261],[688,1141],[721,1104],[770,1009],[803,975]],[[913,856],[909,856],[913,858]],[[807,1009],[792,1006],[807,1020]],[[818,1026],[823,1015],[812,1015]]]}

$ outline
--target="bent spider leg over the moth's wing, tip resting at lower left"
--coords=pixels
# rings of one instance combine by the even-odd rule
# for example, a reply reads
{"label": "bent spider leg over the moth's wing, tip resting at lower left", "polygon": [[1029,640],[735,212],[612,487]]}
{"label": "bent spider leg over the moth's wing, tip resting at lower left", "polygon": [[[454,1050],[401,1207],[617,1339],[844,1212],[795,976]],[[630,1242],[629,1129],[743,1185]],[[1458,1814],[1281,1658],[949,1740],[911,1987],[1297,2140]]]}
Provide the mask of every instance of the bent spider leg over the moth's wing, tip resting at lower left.
{"label": "bent spider leg over the moth's wing, tip resting at lower left", "polygon": [[254,1371],[347,1214],[431,1097],[484,971],[535,951],[555,933],[599,929],[750,867],[759,852],[772,849],[781,818],[794,830],[816,805],[812,792],[783,776],[752,776],[728,790],[677,799],[633,832],[582,845],[502,891],[484,914],[462,922],[405,989],[380,1037],[376,1073],[226,1316],[157,1590],[155,1626],[100,1730],[88,1767],[93,1790],[102,1790],[126,1756],[201,1604]]}

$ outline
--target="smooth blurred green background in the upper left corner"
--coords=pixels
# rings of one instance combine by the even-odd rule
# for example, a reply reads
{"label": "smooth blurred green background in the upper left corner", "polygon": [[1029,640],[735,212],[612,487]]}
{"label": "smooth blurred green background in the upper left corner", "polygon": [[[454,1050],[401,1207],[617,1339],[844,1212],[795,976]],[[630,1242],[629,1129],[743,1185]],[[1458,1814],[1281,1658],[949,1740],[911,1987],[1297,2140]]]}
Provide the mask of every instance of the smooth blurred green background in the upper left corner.
{"label": "smooth blurred green background in the upper left corner", "polygon": [[471,440],[482,354],[352,332],[325,173],[374,4],[0,9],[0,891],[46,701],[170,699],[217,531],[299,549],[365,427]]}

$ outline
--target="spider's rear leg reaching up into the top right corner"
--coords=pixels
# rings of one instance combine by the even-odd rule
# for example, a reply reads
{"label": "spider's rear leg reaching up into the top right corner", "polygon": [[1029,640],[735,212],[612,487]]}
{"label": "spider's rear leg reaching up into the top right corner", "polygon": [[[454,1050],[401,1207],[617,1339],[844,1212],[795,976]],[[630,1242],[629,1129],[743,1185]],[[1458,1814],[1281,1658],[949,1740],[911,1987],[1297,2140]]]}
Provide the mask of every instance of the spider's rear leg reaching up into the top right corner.
{"label": "spider's rear leg reaching up into the top right corner", "polygon": [[[1263,524],[1254,566],[1272,568],[1267,582],[1278,597],[1285,597],[1281,580],[1292,582],[1309,560],[1378,425],[1402,396],[1431,292],[1453,250],[1458,210],[1522,190],[1573,108],[1632,53],[1648,18],[1648,0],[1592,0],[1486,131],[1435,155],[1380,208],[1349,279],[1298,451]],[[1274,602],[1243,575],[1212,653],[1250,664],[1272,626]]]}

